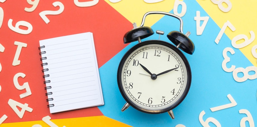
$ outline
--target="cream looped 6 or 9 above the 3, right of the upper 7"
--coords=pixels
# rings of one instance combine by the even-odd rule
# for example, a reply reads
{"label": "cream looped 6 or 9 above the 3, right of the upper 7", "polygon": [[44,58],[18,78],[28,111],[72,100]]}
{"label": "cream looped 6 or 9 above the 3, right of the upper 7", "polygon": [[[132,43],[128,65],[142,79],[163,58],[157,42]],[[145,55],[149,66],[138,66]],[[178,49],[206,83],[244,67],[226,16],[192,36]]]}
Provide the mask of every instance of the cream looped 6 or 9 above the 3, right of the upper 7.
{"label": "cream looped 6 or 9 above the 3, right of the upper 7", "polygon": [[[246,35],[240,34],[235,36],[232,40],[231,40],[231,44],[234,48],[244,48],[247,45],[251,44],[253,42],[253,40],[255,39],[255,34],[253,31],[250,31],[250,35],[251,38],[248,39],[248,37]],[[241,44],[236,44],[237,41],[244,39],[245,41]]]}

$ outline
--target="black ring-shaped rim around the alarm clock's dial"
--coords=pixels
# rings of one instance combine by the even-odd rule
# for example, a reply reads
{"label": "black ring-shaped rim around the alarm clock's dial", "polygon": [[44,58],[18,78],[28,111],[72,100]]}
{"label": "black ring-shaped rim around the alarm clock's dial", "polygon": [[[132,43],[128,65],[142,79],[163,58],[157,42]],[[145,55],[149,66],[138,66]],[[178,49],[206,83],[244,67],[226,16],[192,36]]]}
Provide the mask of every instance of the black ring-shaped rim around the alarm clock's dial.
{"label": "black ring-shaped rim around the alarm clock's dial", "polygon": [[[169,48],[171,48],[172,50],[176,51],[176,53],[179,54],[179,56],[182,58],[183,62],[186,65],[186,69],[187,69],[187,84],[186,84],[186,88],[185,88],[185,92],[182,94],[182,96],[179,98],[178,101],[176,101],[174,104],[172,104],[170,107],[164,108],[162,110],[148,110],[148,109],[144,109],[142,107],[139,107],[138,105],[136,105],[135,103],[133,103],[132,101],[130,101],[129,97],[125,94],[126,91],[124,91],[124,89],[122,88],[122,67],[125,63],[125,60],[128,58],[128,56],[135,51],[136,49],[138,49],[141,46],[144,45],[150,45],[150,44],[159,44],[159,45],[164,45],[167,46]],[[144,41],[141,43],[138,43],[137,45],[133,46],[132,48],[130,48],[122,57],[120,63],[119,63],[119,67],[118,67],[118,71],[117,71],[117,83],[118,83],[118,87],[119,87],[119,91],[122,94],[122,97],[125,99],[125,101],[131,105],[133,108],[135,108],[136,110],[139,110],[141,112],[144,113],[150,113],[150,114],[158,114],[158,113],[164,113],[167,111],[170,111],[172,109],[174,109],[175,107],[177,107],[185,98],[186,95],[189,91],[190,85],[191,85],[191,79],[192,79],[192,75],[191,75],[191,68],[189,65],[188,60],[186,59],[185,55],[178,49],[176,48],[176,46],[168,43],[168,42],[164,42],[161,40],[148,40],[148,41]]]}

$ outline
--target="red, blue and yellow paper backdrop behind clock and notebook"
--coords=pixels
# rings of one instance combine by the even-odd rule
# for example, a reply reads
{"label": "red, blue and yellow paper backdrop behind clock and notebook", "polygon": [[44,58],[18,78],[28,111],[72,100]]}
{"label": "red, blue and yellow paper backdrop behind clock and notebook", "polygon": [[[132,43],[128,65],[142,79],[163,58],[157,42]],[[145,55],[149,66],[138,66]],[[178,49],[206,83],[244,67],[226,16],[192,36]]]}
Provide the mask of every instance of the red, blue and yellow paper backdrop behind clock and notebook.
{"label": "red, blue and yellow paper backdrop behind clock and notebook", "polygon": [[[257,125],[256,4],[254,0],[0,0],[0,126]],[[57,14],[46,15],[47,22],[39,15],[43,11]],[[121,112],[125,100],[117,85],[117,68],[125,52],[138,43],[123,44],[123,36],[132,23],[139,26],[148,11],[182,17],[183,32],[190,31],[195,44],[194,54],[185,53],[192,70],[191,88],[173,109],[175,119],[132,107]],[[179,31],[179,25],[176,18],[157,14],[149,15],[144,24],[164,31],[160,39],[166,42],[170,42],[167,33]],[[84,32],[94,35],[105,105],[51,114],[39,40]],[[142,41],[158,38],[154,34]],[[18,78],[19,85],[27,82],[31,90],[25,98],[19,95],[27,90],[14,85],[17,73],[26,75]],[[8,104],[10,99],[33,111],[20,118]]]}

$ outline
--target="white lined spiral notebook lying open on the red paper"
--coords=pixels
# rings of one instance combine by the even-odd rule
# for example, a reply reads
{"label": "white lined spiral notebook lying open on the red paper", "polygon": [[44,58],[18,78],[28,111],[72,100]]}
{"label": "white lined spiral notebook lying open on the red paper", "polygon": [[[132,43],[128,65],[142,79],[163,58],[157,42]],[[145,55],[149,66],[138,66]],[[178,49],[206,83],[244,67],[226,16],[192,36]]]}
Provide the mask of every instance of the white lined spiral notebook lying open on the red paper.
{"label": "white lined spiral notebook lying open on the red paper", "polygon": [[50,113],[104,104],[92,33],[39,43]]}

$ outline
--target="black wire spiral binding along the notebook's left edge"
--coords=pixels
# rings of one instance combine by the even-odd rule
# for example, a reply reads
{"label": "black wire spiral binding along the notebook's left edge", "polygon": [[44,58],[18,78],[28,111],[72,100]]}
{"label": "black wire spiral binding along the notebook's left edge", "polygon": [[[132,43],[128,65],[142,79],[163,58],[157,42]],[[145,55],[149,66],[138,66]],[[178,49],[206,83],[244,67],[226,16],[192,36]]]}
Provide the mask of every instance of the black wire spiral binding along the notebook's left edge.
{"label": "black wire spiral binding along the notebook's left edge", "polygon": [[[39,50],[40,50],[41,48],[45,48],[45,46],[43,45],[43,46],[38,47]],[[42,55],[42,54],[46,54],[46,51],[42,51],[42,52],[39,53],[39,55]],[[41,58],[40,58],[40,61],[46,60],[46,59],[47,59],[47,57],[41,57]],[[41,66],[42,66],[42,67],[45,66],[45,65],[48,65],[48,63],[41,63]],[[43,70],[42,70],[42,72],[45,72],[45,71],[49,71],[49,69],[46,68],[46,69],[43,69]],[[49,77],[49,76],[50,76],[49,74],[46,74],[46,75],[43,75],[43,78]],[[44,84],[49,83],[49,82],[51,82],[51,81],[50,81],[50,80],[44,81]],[[52,87],[51,87],[51,86],[47,86],[47,87],[45,87],[45,90],[46,90],[46,89],[50,89],[50,88],[52,88]],[[50,94],[52,94],[52,92],[46,93],[46,96],[47,96],[47,95],[50,95]],[[53,98],[47,98],[46,101],[53,101]],[[54,104],[49,104],[49,105],[47,105],[47,107],[53,107],[53,106],[54,106]]]}

